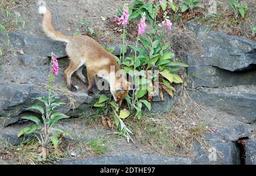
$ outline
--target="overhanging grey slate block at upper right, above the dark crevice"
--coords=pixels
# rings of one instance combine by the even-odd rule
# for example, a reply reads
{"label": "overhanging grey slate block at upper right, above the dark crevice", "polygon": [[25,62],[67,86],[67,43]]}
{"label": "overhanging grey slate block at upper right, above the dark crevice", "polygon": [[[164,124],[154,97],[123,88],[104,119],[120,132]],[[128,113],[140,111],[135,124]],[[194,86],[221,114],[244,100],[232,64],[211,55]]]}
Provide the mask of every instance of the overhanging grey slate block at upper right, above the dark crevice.
{"label": "overhanging grey slate block at upper right, above the dark crevice", "polygon": [[214,66],[229,71],[245,71],[255,68],[256,43],[245,38],[226,35],[220,31],[207,32],[207,28],[187,22],[195,32],[205,53],[201,57],[188,58],[192,66]]}

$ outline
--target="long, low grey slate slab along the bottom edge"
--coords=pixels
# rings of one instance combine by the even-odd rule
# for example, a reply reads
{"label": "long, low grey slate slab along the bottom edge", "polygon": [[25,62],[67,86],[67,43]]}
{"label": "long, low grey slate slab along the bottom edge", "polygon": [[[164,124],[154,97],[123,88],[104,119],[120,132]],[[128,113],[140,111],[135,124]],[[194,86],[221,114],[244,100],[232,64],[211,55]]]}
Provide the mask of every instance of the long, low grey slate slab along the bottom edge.
{"label": "long, low grey slate slab along the bottom edge", "polygon": [[191,164],[189,158],[160,156],[102,156],[85,159],[60,159],[60,165],[179,165]]}

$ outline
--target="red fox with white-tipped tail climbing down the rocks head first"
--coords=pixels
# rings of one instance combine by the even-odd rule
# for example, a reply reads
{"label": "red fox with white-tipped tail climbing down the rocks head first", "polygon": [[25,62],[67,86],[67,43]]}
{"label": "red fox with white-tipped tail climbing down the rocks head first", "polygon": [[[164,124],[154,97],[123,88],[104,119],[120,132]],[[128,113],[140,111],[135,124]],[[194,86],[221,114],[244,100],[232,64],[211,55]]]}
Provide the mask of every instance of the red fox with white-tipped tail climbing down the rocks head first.
{"label": "red fox with white-tipped tail climbing down the rocks head first", "polygon": [[[92,89],[96,87],[94,76],[100,76],[109,82],[110,92],[116,104],[121,105],[123,98],[127,96],[130,89],[130,82],[120,72],[114,55],[108,53],[93,38],[88,36],[65,36],[52,27],[51,12],[44,5],[38,9],[39,14],[43,14],[42,27],[46,35],[57,41],[67,43],[66,52],[69,57],[69,66],[64,71],[67,87],[71,91],[77,91],[78,87],[73,85],[71,76],[75,72],[78,78],[85,84],[88,84],[88,95],[93,95]],[[87,76],[82,75],[82,68],[86,66]],[[114,69],[110,70],[110,67]],[[99,74],[99,73],[105,74]]]}

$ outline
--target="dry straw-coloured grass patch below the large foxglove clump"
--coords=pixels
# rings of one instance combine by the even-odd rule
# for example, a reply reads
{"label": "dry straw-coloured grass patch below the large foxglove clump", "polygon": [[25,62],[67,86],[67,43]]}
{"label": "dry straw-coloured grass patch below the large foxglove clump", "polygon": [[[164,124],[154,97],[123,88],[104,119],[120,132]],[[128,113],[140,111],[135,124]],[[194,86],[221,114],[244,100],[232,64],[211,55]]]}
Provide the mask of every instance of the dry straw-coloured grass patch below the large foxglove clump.
{"label": "dry straw-coloured grass patch below the large foxglove clump", "polygon": [[193,101],[183,88],[179,103],[170,113],[127,123],[135,138],[160,154],[193,156],[195,141],[205,151],[208,149],[204,139],[204,133],[209,131],[204,122],[205,115],[209,115],[208,111]]}

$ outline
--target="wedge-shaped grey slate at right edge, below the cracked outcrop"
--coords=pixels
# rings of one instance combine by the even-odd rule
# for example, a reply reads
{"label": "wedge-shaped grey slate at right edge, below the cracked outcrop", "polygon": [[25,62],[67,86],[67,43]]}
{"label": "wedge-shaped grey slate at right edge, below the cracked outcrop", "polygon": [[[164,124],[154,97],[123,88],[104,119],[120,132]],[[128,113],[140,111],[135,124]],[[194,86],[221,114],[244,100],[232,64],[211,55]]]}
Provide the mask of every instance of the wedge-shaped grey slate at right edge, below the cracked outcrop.
{"label": "wedge-shaped grey slate at right edge, below the cracked outcrop", "polygon": [[230,88],[198,88],[192,91],[193,100],[210,108],[218,109],[236,116],[237,121],[254,122],[256,119],[256,89],[255,86]]}

